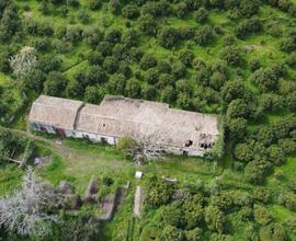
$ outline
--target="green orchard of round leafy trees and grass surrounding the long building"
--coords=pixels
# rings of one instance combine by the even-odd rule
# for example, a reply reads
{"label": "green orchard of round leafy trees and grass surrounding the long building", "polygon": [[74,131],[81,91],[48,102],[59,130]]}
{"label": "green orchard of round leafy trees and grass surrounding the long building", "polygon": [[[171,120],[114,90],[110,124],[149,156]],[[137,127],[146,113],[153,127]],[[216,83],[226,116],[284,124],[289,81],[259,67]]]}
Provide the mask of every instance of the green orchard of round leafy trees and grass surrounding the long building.
{"label": "green orchard of round leafy trees and grass surrounding the long building", "polygon": [[[234,191],[237,186],[229,186],[224,177],[210,188],[201,185],[197,192],[185,185],[196,185],[202,172],[157,163],[162,171],[170,170],[169,175],[182,173],[187,180],[181,177],[182,183],[172,185],[150,180],[156,183],[147,184],[149,195],[159,196],[148,197],[140,223],[146,228],[134,233],[135,239],[293,240],[295,16],[292,0],[1,1],[0,122],[25,126],[20,123],[25,122],[26,104],[39,93],[90,103],[99,103],[106,93],[122,94],[218,114],[225,120],[221,160],[231,160],[231,171],[225,170],[225,175],[235,173],[247,190]],[[26,144],[1,134],[0,160],[20,158]],[[221,146],[210,154],[214,163],[224,152]],[[20,175],[5,167],[1,165],[3,173]],[[219,165],[213,167],[207,177],[219,179]],[[80,176],[69,173],[60,171],[59,177]],[[42,174],[54,181],[50,170]],[[177,190],[182,198],[173,197]],[[167,199],[159,199],[162,196]],[[248,202],[236,203],[242,197]],[[190,217],[192,213],[196,217]],[[122,220],[111,223],[113,231],[121,233],[116,225],[123,225],[124,216],[119,213]],[[73,217],[67,220],[76,222]],[[126,222],[129,236],[140,226],[133,220]],[[104,229],[112,233],[102,234],[106,240],[118,239],[107,225]]]}

